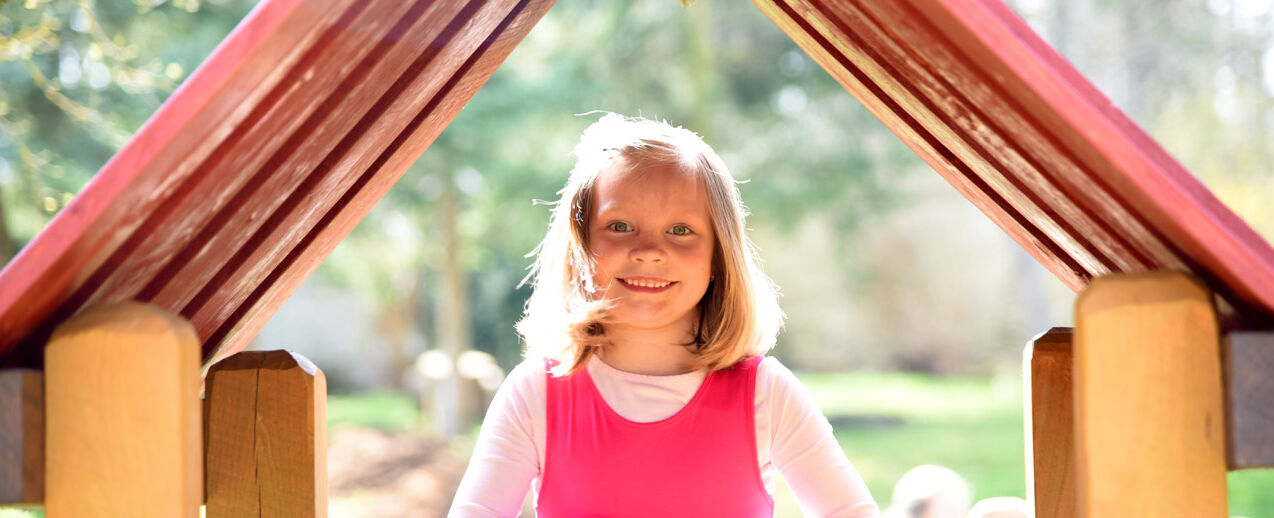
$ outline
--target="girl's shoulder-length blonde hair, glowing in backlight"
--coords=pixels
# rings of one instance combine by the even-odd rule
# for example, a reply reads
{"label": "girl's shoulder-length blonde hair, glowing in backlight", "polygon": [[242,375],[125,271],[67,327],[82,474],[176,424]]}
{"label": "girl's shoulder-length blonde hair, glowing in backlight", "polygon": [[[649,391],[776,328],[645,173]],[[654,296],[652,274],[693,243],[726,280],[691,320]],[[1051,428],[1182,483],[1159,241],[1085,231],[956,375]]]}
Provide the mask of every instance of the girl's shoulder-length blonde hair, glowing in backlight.
{"label": "girl's shoulder-length blonde hair, glowing in backlight", "polygon": [[615,160],[634,169],[675,167],[706,187],[716,242],[712,276],[699,300],[696,369],[725,369],[775,345],[782,327],[777,290],[762,272],[745,234],[747,210],[734,177],[694,132],[666,122],[606,113],[580,136],[576,164],[554,204],[544,241],[524,283],[534,277],[517,332],[529,358],[554,363],[554,375],[575,372],[609,345],[603,321],[610,305],[594,285],[589,219],[598,174]]}

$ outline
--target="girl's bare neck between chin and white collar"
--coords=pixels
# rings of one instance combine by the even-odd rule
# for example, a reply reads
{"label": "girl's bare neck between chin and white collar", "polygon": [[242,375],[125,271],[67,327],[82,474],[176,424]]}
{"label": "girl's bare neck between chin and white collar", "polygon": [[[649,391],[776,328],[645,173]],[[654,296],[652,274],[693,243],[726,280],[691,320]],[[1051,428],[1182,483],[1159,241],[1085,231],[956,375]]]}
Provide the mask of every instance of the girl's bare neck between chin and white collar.
{"label": "girl's bare neck between chin and white collar", "polygon": [[601,347],[599,356],[619,370],[647,375],[684,374],[691,370],[694,353],[684,344],[693,335],[684,330],[642,330],[622,325],[608,325],[610,345]]}

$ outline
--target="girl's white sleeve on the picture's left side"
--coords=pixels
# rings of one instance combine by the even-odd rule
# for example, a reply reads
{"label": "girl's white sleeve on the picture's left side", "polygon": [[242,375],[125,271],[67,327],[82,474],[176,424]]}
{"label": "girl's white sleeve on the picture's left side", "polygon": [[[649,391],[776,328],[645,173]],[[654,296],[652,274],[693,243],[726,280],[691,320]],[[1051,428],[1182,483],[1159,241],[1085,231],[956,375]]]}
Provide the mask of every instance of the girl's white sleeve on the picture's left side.
{"label": "girl's white sleeve on the picture's left side", "polygon": [[[516,517],[540,473],[536,409],[544,406],[544,368],[524,361],[508,374],[483,419],[474,454],[448,517]],[[538,406],[536,406],[538,405]]]}

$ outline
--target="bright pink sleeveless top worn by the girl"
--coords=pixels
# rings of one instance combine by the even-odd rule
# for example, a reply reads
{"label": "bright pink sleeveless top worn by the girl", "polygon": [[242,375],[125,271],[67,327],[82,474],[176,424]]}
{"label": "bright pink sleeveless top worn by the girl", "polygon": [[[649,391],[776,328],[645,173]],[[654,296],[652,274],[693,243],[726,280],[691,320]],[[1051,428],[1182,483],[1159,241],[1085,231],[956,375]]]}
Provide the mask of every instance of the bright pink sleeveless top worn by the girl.
{"label": "bright pink sleeveless top worn by the girl", "polygon": [[539,517],[772,517],[757,466],[750,356],[710,373],[671,417],[634,423],[587,369],[548,377]]}

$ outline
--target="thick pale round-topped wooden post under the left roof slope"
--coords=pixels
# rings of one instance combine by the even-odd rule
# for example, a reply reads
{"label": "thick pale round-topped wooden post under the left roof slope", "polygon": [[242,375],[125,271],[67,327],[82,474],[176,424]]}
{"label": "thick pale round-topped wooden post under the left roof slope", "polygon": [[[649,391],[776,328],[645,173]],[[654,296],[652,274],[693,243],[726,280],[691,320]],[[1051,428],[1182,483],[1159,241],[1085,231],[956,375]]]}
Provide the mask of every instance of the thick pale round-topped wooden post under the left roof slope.
{"label": "thick pale round-topped wooden post under the left roof slope", "polygon": [[199,339],[154,305],[90,309],[45,349],[50,518],[199,515]]}

